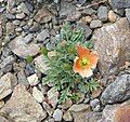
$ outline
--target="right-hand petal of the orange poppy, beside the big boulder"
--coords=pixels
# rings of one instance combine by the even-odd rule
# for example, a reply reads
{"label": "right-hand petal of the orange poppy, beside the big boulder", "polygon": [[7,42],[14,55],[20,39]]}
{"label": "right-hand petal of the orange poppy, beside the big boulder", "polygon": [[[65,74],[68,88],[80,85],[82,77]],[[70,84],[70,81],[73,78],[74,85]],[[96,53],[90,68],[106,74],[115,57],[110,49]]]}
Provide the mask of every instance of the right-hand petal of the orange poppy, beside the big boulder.
{"label": "right-hand petal of the orange poppy, beside the big boulder", "polygon": [[95,51],[91,52],[90,55],[89,55],[89,58],[90,58],[90,67],[92,69],[94,69],[98,65],[98,59],[99,59],[99,56],[98,56],[98,53]]}

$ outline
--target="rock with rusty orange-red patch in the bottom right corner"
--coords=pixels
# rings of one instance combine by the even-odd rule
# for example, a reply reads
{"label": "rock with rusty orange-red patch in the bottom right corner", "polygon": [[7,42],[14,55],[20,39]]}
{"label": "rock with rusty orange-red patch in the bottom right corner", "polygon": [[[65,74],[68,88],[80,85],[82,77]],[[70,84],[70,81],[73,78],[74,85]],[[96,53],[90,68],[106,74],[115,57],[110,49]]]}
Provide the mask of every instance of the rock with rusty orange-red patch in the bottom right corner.
{"label": "rock with rusty orange-red patch in the bottom right corner", "polygon": [[129,122],[130,120],[130,100],[122,104],[107,105],[103,109],[101,122]]}

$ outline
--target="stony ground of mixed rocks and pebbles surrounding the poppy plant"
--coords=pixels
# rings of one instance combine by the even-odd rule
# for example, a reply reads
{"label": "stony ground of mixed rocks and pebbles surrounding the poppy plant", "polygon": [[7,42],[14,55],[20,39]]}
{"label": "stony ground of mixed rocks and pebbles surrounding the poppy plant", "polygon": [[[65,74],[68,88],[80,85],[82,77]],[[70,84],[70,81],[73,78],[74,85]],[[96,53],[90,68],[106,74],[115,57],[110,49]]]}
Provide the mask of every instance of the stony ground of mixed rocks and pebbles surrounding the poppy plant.
{"label": "stony ground of mixed rocks and pebbles surrounding the poppy plant", "polygon": [[[130,0],[0,0],[0,122],[130,122],[129,8]],[[57,105],[58,92],[41,82],[39,49],[53,46],[66,21],[95,42],[102,89]]]}

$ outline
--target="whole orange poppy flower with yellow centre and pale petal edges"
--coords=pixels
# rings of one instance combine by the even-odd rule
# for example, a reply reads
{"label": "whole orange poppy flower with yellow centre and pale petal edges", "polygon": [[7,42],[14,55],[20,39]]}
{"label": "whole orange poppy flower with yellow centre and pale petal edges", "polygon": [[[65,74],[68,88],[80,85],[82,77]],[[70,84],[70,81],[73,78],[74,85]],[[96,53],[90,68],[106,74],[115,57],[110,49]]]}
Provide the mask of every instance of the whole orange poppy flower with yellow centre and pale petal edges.
{"label": "whole orange poppy flower with yellow centre and pale petal edges", "polygon": [[98,53],[81,45],[77,46],[77,53],[78,56],[74,59],[74,71],[78,72],[82,78],[91,77],[98,64]]}

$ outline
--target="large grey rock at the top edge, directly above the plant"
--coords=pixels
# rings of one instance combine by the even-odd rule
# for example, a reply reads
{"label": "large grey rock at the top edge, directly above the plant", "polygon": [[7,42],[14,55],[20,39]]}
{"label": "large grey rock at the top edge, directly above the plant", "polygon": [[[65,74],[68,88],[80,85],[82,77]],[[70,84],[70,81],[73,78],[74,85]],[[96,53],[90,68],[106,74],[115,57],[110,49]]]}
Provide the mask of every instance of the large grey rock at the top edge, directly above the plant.
{"label": "large grey rock at the top edge, directly above the plant", "polygon": [[64,0],[61,1],[61,10],[60,10],[60,17],[64,18],[67,17],[68,21],[74,22],[79,19],[80,12],[76,10],[76,6],[72,3],[65,2]]}

